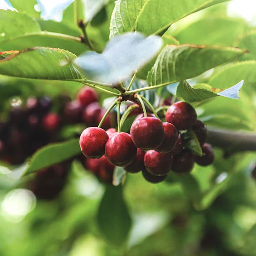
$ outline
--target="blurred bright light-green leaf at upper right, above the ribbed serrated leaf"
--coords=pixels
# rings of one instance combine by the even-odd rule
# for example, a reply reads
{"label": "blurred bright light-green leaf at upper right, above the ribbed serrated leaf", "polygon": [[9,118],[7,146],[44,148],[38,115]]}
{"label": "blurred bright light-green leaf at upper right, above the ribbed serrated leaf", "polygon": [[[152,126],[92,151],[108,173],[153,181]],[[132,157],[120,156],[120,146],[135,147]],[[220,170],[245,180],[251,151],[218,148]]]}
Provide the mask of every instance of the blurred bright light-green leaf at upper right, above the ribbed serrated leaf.
{"label": "blurred bright light-green leaf at upper right, above the ribbed serrated leaf", "polygon": [[[234,46],[243,34],[245,22],[228,17],[206,16],[193,23],[169,30],[181,44]],[[169,32],[167,30],[167,32]],[[199,32],[200,30],[200,32]],[[239,47],[246,49],[246,47]]]}

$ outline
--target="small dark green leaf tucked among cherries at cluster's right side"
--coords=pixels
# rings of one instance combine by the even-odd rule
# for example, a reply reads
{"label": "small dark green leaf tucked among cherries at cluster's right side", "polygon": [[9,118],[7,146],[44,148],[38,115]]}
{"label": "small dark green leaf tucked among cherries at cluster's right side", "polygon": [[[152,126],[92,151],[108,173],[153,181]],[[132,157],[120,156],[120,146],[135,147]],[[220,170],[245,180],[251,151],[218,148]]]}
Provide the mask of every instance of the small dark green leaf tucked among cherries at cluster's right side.
{"label": "small dark green leaf tucked among cherries at cluster's right side", "polygon": [[183,133],[182,139],[185,148],[189,149],[191,152],[198,155],[199,157],[203,155],[199,141],[192,129],[188,129],[187,132]]}

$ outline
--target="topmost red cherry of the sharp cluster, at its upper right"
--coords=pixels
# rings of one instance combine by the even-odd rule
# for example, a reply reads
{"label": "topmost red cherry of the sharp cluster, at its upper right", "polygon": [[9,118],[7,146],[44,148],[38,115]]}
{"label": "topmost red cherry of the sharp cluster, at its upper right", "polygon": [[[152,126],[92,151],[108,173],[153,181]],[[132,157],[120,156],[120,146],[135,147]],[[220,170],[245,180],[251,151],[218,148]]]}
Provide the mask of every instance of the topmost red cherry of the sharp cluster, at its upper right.
{"label": "topmost red cherry of the sharp cluster, at its upper right", "polygon": [[196,122],[195,109],[186,102],[175,102],[167,109],[165,119],[174,124],[178,130],[191,128]]}

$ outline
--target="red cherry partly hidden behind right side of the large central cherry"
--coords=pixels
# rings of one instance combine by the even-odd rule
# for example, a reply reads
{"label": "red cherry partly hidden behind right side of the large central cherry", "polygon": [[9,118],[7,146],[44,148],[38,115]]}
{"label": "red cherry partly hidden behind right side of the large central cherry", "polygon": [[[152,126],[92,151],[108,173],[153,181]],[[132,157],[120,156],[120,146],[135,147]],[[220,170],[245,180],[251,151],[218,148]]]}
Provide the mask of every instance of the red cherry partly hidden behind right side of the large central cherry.
{"label": "red cherry partly hidden behind right side of the large central cherry", "polygon": [[174,149],[176,141],[178,139],[178,131],[173,124],[163,123],[164,126],[164,140],[162,144],[156,148],[157,152],[167,153]]}

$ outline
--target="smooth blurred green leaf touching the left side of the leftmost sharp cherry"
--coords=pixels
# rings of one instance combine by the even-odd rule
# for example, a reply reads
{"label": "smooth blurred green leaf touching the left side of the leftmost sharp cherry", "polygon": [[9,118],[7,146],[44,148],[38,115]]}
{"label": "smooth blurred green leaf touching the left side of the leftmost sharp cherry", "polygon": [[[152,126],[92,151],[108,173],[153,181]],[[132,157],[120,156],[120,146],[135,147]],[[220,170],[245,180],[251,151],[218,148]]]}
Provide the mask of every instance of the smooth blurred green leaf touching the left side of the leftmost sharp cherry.
{"label": "smooth blurred green leaf touching the left side of the leftmost sharp cherry", "polygon": [[78,139],[52,143],[39,149],[31,157],[25,174],[60,163],[81,153]]}

